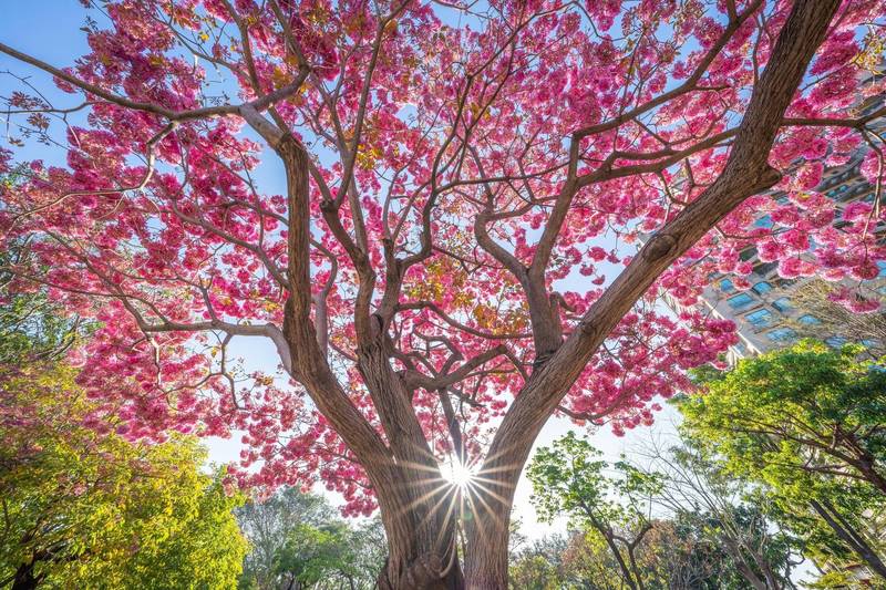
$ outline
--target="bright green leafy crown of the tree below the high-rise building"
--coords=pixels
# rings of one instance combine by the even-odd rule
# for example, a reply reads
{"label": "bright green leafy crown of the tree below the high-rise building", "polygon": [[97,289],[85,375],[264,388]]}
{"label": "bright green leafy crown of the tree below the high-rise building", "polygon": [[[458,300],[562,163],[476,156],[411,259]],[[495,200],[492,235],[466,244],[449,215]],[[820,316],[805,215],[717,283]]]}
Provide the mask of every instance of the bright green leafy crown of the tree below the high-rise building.
{"label": "bright green leafy crown of the tree below the high-rise building", "polygon": [[743,475],[821,473],[886,495],[886,371],[862,350],[807,341],[741,361],[680,404],[683,427]]}

